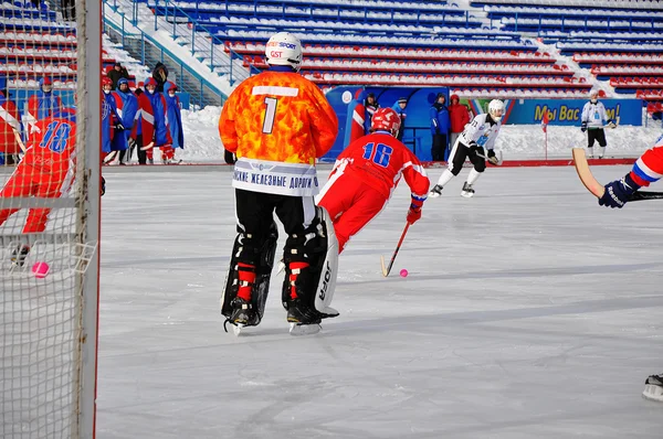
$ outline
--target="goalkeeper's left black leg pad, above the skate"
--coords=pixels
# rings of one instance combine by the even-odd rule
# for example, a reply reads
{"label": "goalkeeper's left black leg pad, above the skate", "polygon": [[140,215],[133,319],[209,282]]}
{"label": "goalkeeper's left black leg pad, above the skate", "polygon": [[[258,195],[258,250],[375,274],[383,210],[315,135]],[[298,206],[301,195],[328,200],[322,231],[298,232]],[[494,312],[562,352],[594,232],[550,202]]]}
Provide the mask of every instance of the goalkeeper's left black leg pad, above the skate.
{"label": "goalkeeper's left black leg pad, above the skate", "polygon": [[276,254],[276,243],[278,240],[278,231],[276,223],[272,223],[270,232],[261,243],[259,248],[254,246],[246,248],[245,245],[252,245],[255,242],[251,236],[239,233],[232,248],[232,257],[230,259],[230,268],[225,277],[223,291],[221,293],[221,313],[230,317],[232,308],[230,302],[238,296],[240,289],[240,268],[239,264],[251,264],[255,266],[255,283],[251,290],[251,303],[256,310],[255,319],[249,322],[249,325],[256,325],[262,320],[270,292],[270,279],[272,276],[272,267],[274,267],[274,256]]}

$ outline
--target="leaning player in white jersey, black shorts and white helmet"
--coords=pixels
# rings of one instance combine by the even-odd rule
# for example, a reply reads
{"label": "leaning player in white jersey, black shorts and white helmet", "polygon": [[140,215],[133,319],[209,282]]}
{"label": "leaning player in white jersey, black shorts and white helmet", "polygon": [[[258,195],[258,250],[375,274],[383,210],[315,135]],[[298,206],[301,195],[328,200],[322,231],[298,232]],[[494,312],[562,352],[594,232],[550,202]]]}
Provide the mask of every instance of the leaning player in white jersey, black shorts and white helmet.
{"label": "leaning player in white jersey, black shorts and white helmet", "polygon": [[461,172],[467,158],[474,168],[467,175],[461,195],[465,197],[474,195],[472,185],[486,169],[486,151],[487,160],[493,164],[498,163],[493,149],[502,127],[502,116],[504,116],[504,103],[493,99],[488,105],[487,114],[476,116],[465,126],[465,130],[459,136],[449,154],[449,168],[440,175],[438,184],[429,193],[430,197],[434,199],[442,194],[444,185]]}

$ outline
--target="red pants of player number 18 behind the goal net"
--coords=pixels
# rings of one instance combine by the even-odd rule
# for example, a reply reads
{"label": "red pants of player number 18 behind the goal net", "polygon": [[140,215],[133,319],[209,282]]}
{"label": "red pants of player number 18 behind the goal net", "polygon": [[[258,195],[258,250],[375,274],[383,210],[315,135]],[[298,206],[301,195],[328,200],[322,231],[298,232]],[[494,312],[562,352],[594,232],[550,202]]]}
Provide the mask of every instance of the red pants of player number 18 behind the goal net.
{"label": "red pants of player number 18 behind the goal net", "polygon": [[[41,199],[56,199],[65,174],[43,174],[30,165],[19,165],[11,178],[0,191],[1,199],[36,196]],[[10,215],[18,208],[3,208],[0,211],[0,225],[4,224]],[[23,227],[23,233],[40,233],[45,231],[50,208],[31,208]]]}

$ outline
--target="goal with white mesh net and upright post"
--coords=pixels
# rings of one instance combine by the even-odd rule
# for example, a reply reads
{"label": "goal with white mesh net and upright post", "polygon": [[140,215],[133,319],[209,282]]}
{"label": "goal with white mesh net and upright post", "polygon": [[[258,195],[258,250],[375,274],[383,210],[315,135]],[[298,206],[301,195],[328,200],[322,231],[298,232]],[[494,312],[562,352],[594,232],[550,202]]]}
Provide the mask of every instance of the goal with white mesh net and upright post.
{"label": "goal with white mesh net and upright post", "polygon": [[0,437],[92,438],[99,2],[0,14]]}

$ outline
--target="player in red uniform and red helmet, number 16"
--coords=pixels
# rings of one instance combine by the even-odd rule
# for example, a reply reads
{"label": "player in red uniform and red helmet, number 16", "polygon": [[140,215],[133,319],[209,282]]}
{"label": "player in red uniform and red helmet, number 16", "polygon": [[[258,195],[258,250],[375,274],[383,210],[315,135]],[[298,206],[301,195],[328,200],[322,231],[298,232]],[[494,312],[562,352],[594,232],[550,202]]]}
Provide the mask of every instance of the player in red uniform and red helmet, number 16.
{"label": "player in red uniform and red helmet, number 16", "polygon": [[394,138],[399,126],[400,117],[392,108],[378,109],[371,133],[355,140],[338,156],[329,181],[316,199],[334,221],[338,253],[385,208],[401,175],[412,191],[408,223],[414,224],[421,217],[430,181],[419,159]]}

